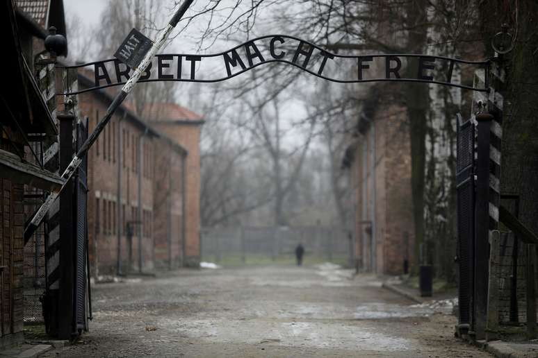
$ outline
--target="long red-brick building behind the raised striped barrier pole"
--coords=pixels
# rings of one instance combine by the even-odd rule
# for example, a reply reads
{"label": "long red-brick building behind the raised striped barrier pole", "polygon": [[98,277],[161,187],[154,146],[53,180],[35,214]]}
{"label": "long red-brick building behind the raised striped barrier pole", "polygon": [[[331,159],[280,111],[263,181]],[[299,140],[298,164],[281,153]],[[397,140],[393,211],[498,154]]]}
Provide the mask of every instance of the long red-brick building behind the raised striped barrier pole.
{"label": "long red-brick building behind the raised striped barrier pole", "polygon": [[[79,74],[79,86],[91,87],[92,80]],[[79,94],[90,132],[112,101],[104,89]],[[130,108],[126,103],[117,110],[88,153],[92,270],[101,275],[196,266],[202,121],[179,105],[153,103],[156,110],[174,108],[195,118],[160,128]]]}

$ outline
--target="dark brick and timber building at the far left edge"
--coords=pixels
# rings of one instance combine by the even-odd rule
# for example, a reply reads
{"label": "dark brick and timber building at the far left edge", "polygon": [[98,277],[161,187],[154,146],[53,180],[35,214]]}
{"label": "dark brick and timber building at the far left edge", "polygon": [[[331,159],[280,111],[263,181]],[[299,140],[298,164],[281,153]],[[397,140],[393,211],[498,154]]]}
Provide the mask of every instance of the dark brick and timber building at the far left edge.
{"label": "dark brick and timber building at the far left edge", "polygon": [[[39,53],[43,53],[45,26],[62,28],[61,1],[2,1],[0,24],[4,35],[1,64],[9,71],[9,84],[0,89],[0,346],[21,341],[22,327],[29,307],[28,289],[44,289],[34,270],[27,270],[26,256],[37,268],[44,253],[34,235],[23,237],[24,223],[33,203],[39,203],[42,191],[58,189],[63,180],[49,170],[42,153],[58,143],[54,106],[54,86],[42,91],[51,80],[45,71],[37,73]],[[65,29],[65,26],[63,26]],[[36,79],[37,78],[37,79]],[[28,248],[28,250],[27,250]],[[42,261],[38,262],[38,259]],[[37,271],[35,271],[37,272]],[[44,277],[40,277],[44,278]],[[29,283],[28,287],[26,282]],[[40,312],[40,311],[39,311]]]}

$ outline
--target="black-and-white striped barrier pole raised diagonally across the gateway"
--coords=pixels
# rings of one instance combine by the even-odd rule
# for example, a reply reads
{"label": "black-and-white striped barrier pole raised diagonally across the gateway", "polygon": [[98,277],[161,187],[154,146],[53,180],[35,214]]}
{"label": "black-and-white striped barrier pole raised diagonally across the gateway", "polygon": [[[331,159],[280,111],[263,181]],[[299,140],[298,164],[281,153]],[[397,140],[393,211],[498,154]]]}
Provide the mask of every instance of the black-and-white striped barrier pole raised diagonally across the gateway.
{"label": "black-and-white striped barrier pole raised diagonally across the gateway", "polygon": [[110,121],[112,115],[117,110],[117,108],[120,107],[124,99],[126,99],[127,96],[129,96],[129,94],[132,92],[133,87],[136,85],[136,83],[140,79],[140,76],[142,76],[142,73],[145,72],[146,68],[151,63],[152,58],[155,56],[157,51],[161,49],[165,41],[168,39],[168,36],[170,35],[174,27],[177,25],[181,17],[183,17],[183,15],[189,8],[190,4],[193,3],[193,1],[194,0],[185,0],[184,3],[181,4],[177,12],[174,14],[172,19],[170,19],[168,26],[166,26],[163,29],[163,31],[158,33],[157,38],[152,45],[152,48],[149,49],[149,51],[147,52],[142,62],[140,62],[140,65],[138,65],[138,67],[135,69],[135,71],[131,75],[131,78],[129,78],[127,83],[125,83],[125,85],[122,87],[122,90],[120,91],[120,93],[118,93],[115,96],[114,101],[106,109],[106,113],[103,119],[101,119],[101,121],[97,123],[95,130],[92,132],[90,137],[88,137],[88,139],[85,140],[85,142],[82,144],[79,151],[76,153],[76,155],[74,155],[70,164],[67,166],[67,168],[63,172],[62,178],[65,180],[65,182],[62,185],[62,187],[60,187],[58,191],[53,191],[51,192],[51,194],[49,194],[49,196],[44,201],[44,203],[42,203],[38,212],[36,212],[35,215],[33,216],[30,223],[28,223],[26,228],[24,228],[25,241],[28,240],[33,235],[35,230],[37,230],[45,214],[47,214],[47,212],[49,211],[52,203],[56,201],[56,198],[58,198],[58,196],[60,195],[60,192],[63,191],[63,189],[65,188],[65,185],[67,185],[67,182],[69,182],[70,178],[73,176],[73,173],[81,164],[82,158],[84,157],[84,155],[88,153],[88,150],[90,149],[92,144],[97,140],[97,137],[99,137],[101,132],[104,130],[105,126],[108,124],[108,121]]}

